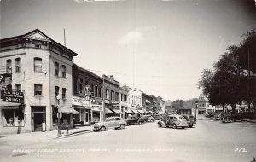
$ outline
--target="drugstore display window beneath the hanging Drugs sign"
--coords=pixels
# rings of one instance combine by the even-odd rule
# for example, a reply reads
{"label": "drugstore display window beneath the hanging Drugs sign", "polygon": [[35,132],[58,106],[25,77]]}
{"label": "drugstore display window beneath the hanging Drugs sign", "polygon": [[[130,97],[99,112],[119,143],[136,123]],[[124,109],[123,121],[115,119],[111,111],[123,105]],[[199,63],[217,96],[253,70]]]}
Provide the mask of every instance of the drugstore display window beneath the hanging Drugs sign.
{"label": "drugstore display window beneath the hanging Drugs sign", "polygon": [[24,113],[20,109],[3,109],[3,126],[24,126]]}

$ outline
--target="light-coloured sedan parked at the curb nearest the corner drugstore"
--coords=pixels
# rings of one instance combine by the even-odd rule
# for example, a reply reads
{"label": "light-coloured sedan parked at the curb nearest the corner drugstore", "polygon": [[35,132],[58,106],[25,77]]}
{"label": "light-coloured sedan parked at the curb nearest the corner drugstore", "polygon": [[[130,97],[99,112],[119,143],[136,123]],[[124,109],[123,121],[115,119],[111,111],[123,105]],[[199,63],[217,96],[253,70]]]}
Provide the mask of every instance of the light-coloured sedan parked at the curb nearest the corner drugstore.
{"label": "light-coloured sedan parked at the curb nearest the corner drugstore", "polygon": [[125,119],[120,117],[109,117],[104,122],[94,124],[94,130],[124,129],[127,125]]}

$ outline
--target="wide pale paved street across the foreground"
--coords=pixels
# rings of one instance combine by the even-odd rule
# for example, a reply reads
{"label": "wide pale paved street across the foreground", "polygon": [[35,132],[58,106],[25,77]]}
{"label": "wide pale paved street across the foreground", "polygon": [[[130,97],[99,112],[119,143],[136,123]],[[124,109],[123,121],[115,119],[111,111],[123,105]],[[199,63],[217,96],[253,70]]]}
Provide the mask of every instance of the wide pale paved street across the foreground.
{"label": "wide pale paved street across the foreground", "polygon": [[255,123],[222,124],[202,119],[195,128],[185,130],[158,128],[154,122],[128,126],[125,130],[90,131],[29,145],[3,142],[3,137],[0,138],[0,159],[249,162],[256,157],[255,133]]}

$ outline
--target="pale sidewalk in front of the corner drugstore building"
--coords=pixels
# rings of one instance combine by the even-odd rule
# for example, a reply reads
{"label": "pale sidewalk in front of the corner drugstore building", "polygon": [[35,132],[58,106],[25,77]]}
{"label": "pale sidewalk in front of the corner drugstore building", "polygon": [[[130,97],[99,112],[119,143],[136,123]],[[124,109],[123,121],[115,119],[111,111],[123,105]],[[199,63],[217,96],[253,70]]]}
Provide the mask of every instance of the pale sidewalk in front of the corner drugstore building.
{"label": "pale sidewalk in front of the corner drugstore building", "polygon": [[57,139],[62,136],[72,136],[74,134],[82,133],[85,131],[93,130],[93,126],[77,126],[66,132],[66,130],[61,130],[61,136],[58,136],[58,130],[52,131],[38,131],[38,132],[29,132],[21,134],[11,134],[11,135],[0,135],[0,141],[3,142],[19,142],[22,143],[33,143],[33,142],[46,142],[49,140]]}

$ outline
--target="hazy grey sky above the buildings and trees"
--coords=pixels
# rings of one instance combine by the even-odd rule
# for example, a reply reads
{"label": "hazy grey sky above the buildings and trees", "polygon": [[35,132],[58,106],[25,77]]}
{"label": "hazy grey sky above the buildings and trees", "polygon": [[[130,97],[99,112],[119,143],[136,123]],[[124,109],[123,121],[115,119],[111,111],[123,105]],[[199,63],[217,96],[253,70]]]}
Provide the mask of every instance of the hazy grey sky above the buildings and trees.
{"label": "hazy grey sky above the buildings and trees", "polygon": [[65,28],[80,67],[148,95],[188,100],[201,94],[203,69],[256,28],[255,3],[248,2],[0,0],[0,38],[39,29],[64,44]]}

